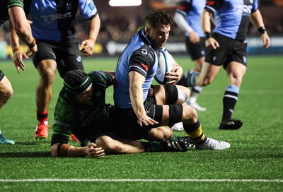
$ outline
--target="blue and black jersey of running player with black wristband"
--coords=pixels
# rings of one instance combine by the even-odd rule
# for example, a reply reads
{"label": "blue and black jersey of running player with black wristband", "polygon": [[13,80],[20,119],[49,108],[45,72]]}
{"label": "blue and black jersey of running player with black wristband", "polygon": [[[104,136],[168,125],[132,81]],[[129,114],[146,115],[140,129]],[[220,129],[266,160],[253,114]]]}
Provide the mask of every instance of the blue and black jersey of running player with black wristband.
{"label": "blue and black jersey of running player with black wristband", "polygon": [[246,40],[250,14],[258,10],[258,0],[207,0],[205,8],[216,17],[214,32]]}

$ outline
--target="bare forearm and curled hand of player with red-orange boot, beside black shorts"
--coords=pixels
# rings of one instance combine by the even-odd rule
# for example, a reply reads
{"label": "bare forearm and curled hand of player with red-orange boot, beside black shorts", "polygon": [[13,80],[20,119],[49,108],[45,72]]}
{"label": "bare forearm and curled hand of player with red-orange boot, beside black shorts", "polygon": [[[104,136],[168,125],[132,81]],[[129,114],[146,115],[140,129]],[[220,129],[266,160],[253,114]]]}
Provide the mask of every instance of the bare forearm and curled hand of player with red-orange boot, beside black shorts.
{"label": "bare forearm and curled hand of player with red-orange boot, beside black shorts", "polygon": [[97,14],[96,17],[92,18],[88,22],[88,39],[81,42],[80,52],[86,56],[91,56],[93,54],[94,44],[96,44],[96,39],[100,30],[100,17]]}

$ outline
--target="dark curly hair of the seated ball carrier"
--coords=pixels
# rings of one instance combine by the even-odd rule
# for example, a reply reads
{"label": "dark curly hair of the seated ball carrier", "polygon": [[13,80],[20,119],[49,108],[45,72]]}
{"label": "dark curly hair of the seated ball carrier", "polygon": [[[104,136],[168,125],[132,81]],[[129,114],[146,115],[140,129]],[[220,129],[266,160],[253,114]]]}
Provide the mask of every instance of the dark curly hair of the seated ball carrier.
{"label": "dark curly hair of the seated ball carrier", "polygon": [[173,23],[173,17],[167,11],[150,11],[145,20],[145,25],[149,25],[152,28],[156,28],[158,23],[162,25],[171,25]]}

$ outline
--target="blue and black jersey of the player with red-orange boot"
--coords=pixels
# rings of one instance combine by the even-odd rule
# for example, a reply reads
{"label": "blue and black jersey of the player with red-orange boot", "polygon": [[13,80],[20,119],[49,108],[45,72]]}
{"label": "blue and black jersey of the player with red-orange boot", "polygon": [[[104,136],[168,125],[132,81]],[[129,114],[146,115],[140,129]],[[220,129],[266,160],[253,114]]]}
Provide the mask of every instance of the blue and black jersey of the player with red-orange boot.
{"label": "blue and black jersey of the player with red-orange boot", "polygon": [[78,9],[83,20],[90,20],[98,14],[93,0],[30,0],[29,3],[36,40],[62,42],[76,39],[75,16]]}

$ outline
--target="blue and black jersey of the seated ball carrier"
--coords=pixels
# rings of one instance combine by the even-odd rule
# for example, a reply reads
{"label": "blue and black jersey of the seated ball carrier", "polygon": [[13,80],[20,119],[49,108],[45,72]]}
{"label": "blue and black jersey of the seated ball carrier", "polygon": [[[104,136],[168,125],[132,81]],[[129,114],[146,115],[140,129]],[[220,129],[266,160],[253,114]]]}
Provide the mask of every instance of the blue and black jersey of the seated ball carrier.
{"label": "blue and black jersey of the seated ball carrier", "polygon": [[157,69],[156,49],[144,32],[139,30],[129,41],[117,61],[114,86],[114,101],[122,109],[132,108],[129,98],[129,71],[137,71],[146,78],[142,85],[144,101]]}

